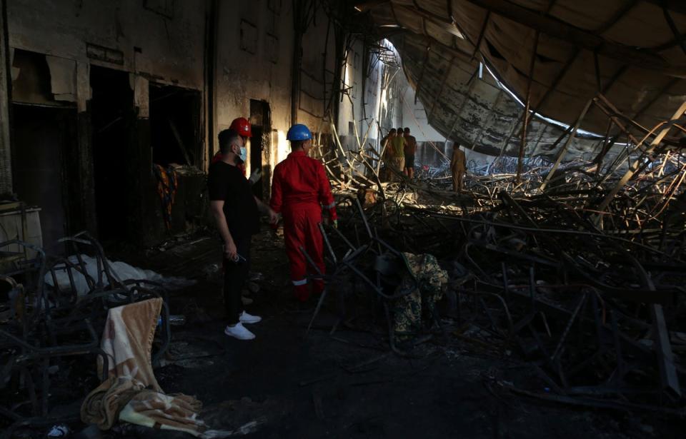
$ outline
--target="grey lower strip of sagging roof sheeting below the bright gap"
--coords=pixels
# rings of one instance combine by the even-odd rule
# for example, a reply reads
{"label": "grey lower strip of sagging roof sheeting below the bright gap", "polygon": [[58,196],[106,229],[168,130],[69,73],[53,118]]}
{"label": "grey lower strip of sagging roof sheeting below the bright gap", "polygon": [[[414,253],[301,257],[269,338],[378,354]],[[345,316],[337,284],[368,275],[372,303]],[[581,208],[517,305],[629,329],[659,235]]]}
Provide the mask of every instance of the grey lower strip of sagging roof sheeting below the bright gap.
{"label": "grey lower strip of sagging roof sheeting below the bright gap", "polygon": [[[478,63],[446,59],[434,46],[427,51],[422,36],[404,34],[391,40],[402,57],[409,83],[427,109],[431,126],[474,151],[517,156],[524,109],[485,69],[479,79]],[[552,145],[563,132],[559,126],[533,118],[527,129],[525,156],[555,158],[558,150]],[[599,144],[597,138],[575,138],[565,160],[594,153]]]}

